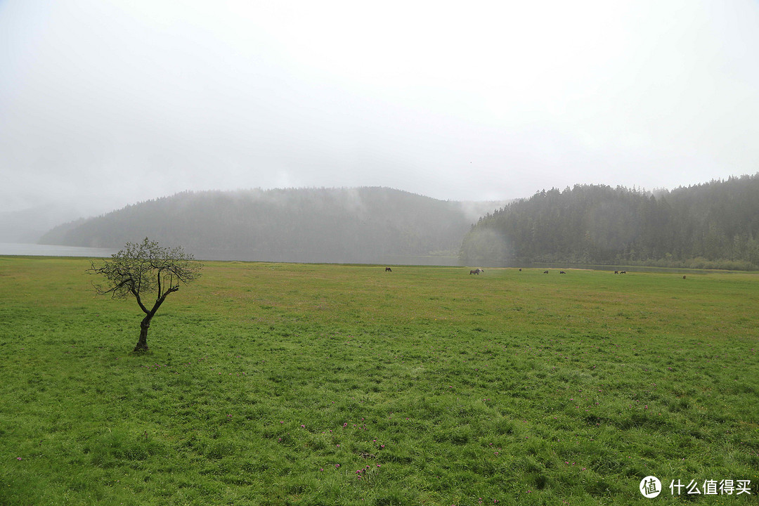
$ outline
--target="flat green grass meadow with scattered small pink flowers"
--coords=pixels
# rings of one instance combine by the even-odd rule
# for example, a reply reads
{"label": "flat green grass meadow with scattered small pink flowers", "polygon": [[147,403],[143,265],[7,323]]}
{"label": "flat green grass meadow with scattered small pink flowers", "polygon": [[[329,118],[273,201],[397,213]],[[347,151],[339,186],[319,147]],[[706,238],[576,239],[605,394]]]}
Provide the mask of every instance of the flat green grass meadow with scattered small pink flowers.
{"label": "flat green grass meadow with scattered small pink flowers", "polygon": [[209,262],[134,355],[88,267],[0,257],[3,506],[759,500],[757,274]]}

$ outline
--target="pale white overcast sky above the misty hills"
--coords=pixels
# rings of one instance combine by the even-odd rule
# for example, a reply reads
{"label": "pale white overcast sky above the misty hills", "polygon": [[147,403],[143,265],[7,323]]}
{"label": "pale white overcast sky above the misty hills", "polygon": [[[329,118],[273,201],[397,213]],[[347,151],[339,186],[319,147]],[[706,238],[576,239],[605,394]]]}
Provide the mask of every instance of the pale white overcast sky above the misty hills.
{"label": "pale white overcast sky above the misty hills", "polygon": [[756,0],[0,0],[0,211],[757,171]]}

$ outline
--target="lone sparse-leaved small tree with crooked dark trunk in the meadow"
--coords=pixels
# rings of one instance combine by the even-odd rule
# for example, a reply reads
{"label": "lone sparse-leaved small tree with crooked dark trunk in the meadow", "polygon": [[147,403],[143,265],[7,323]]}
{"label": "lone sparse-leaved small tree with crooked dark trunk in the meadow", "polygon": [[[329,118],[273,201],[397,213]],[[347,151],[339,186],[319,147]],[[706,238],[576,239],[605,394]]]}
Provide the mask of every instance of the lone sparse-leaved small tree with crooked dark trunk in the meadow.
{"label": "lone sparse-leaved small tree with crooked dark trunk in the meadow", "polygon": [[[111,294],[115,299],[132,295],[137,299],[137,305],[145,313],[140,322],[140,339],[134,347],[135,352],[140,352],[148,349],[150,321],[168,294],[178,291],[181,283],[200,278],[201,269],[203,265],[195,262],[192,255],[184,253],[181,247],[161,247],[156,241],[145,237],[140,244],[127,243],[123,250],[114,253],[100,266],[92,262],[92,268],[87,270],[106,278],[104,284],[93,283],[98,294]],[[156,301],[149,308],[150,304],[143,299],[151,294],[156,294]]]}

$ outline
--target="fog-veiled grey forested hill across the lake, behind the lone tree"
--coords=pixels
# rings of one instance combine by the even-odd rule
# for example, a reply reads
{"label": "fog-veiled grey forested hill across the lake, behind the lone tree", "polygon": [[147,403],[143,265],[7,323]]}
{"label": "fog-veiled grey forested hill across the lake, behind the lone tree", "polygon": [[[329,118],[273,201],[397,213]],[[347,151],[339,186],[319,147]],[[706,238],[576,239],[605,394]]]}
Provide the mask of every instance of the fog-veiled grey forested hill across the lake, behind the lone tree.
{"label": "fog-veiled grey forested hill across the lake, behind the lone tree", "polygon": [[120,249],[150,237],[200,259],[455,262],[461,239],[496,204],[477,215],[465,207],[379,187],[188,192],[61,225],[39,242]]}

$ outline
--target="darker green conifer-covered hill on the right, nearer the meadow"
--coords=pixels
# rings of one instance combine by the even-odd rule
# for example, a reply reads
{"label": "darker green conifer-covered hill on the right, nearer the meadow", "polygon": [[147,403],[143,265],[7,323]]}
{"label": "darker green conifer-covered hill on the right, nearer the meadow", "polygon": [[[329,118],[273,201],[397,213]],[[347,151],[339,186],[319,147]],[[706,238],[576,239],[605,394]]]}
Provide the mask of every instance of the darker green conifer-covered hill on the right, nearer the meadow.
{"label": "darker green conifer-covered hill on the right, nearer the meadow", "polygon": [[461,259],[759,269],[759,174],[653,193],[543,190],[480,218]]}

